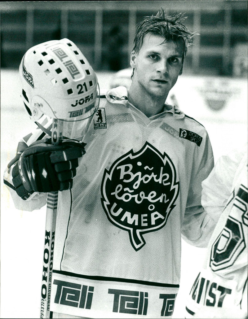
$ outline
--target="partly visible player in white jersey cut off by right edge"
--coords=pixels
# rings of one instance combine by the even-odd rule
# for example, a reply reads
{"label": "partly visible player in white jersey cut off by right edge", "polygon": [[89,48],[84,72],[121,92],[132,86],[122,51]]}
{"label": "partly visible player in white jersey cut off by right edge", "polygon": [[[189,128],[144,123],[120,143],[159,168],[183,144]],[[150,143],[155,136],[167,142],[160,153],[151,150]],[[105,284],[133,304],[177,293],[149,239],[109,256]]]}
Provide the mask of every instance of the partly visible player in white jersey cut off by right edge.
{"label": "partly visible player in white jersey cut off by right edge", "polygon": [[247,145],[222,156],[202,183],[205,211],[221,211],[186,305],[186,318],[247,318]]}

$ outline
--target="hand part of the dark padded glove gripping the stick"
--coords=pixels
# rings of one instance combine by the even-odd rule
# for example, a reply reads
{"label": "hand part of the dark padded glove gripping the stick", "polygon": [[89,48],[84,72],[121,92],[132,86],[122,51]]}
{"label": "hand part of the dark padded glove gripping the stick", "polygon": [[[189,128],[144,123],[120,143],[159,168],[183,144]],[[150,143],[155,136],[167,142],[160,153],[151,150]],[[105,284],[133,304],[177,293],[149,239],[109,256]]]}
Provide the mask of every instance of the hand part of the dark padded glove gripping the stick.
{"label": "hand part of the dark padded glove gripping the stick", "polygon": [[40,193],[71,189],[78,158],[85,154],[85,145],[76,140],[52,145],[50,138],[31,144],[18,162],[25,189]]}

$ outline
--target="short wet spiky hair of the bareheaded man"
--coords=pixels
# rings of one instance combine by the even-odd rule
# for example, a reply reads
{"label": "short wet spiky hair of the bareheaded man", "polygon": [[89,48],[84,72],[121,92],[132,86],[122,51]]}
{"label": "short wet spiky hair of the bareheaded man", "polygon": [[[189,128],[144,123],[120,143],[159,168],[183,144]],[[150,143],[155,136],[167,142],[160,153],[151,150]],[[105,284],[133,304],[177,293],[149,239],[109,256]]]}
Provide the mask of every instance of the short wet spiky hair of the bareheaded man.
{"label": "short wet spiky hair of the bareheaded man", "polygon": [[195,33],[191,33],[182,23],[185,19],[187,19],[187,17],[185,17],[182,13],[174,13],[172,16],[167,17],[165,10],[162,8],[155,16],[152,15],[151,17],[144,17],[144,19],[137,25],[133,41],[133,51],[135,53],[139,53],[145,34],[154,33],[163,36],[165,38],[164,42],[182,39],[185,44],[185,56],[187,48],[193,44],[192,37],[195,35]]}

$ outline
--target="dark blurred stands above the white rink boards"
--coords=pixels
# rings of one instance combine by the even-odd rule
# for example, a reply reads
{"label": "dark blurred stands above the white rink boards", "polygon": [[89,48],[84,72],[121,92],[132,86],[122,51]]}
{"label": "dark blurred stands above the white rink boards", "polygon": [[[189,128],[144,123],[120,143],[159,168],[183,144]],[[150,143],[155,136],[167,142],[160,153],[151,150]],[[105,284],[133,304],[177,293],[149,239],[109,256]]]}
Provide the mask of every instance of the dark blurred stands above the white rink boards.
{"label": "dark blurred stands above the white rink boards", "polygon": [[[185,74],[247,76],[247,1],[1,2],[1,67],[15,68],[27,49],[68,38],[94,70],[129,67],[136,24],[164,7],[199,33]],[[116,63],[113,60],[116,59]]]}

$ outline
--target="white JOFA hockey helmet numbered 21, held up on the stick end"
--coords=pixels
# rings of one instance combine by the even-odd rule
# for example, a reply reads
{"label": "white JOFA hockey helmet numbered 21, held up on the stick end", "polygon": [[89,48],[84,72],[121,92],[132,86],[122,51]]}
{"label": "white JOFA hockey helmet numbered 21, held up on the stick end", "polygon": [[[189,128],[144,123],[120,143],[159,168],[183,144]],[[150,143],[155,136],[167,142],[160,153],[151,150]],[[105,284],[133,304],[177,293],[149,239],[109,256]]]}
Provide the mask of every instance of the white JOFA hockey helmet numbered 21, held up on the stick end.
{"label": "white JOFA hockey helmet numbered 21, held up on the stick end", "polygon": [[98,81],[80,49],[70,40],[30,48],[19,67],[21,97],[34,122],[42,115],[66,122],[91,118],[99,106]]}

